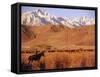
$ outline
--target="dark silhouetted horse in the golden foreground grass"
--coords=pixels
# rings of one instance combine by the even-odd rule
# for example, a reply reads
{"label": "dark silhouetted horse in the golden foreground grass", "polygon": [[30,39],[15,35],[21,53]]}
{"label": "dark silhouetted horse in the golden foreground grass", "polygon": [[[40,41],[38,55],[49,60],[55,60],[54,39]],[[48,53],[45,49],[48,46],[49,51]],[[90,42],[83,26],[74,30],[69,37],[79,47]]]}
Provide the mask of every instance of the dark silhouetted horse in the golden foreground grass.
{"label": "dark silhouetted horse in the golden foreground grass", "polygon": [[44,56],[44,51],[41,53],[37,53],[35,55],[29,56],[29,58],[28,58],[29,63],[28,64],[32,63],[33,61],[39,61],[42,56]]}

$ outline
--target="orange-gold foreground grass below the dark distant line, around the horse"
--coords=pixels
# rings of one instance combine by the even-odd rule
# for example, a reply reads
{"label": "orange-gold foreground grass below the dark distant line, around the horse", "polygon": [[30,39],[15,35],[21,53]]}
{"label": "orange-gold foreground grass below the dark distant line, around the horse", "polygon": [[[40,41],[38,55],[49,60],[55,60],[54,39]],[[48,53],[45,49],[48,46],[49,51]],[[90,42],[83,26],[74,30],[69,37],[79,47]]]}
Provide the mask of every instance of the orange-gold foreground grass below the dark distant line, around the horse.
{"label": "orange-gold foreground grass below the dark distant line, around the horse", "polygon": [[[28,64],[28,57],[32,53],[22,53],[22,62]],[[45,52],[45,56],[40,61],[33,61],[32,67],[34,70],[39,70],[40,63],[45,65],[44,69],[62,69],[62,68],[77,68],[77,67],[94,67],[95,66],[95,51],[54,51]]]}

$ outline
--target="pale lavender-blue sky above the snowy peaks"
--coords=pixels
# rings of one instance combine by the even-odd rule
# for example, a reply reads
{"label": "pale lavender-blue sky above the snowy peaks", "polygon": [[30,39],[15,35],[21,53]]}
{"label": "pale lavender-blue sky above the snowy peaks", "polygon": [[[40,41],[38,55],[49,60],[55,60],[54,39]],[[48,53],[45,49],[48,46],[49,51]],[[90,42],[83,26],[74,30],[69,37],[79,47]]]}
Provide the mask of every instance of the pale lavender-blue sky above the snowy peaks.
{"label": "pale lavender-blue sky above the snowy peaks", "polygon": [[45,8],[45,7],[31,7],[31,6],[22,6],[22,12],[35,11],[38,9],[45,10],[47,13],[51,15],[55,15],[57,17],[81,17],[87,16],[89,18],[95,18],[94,10],[81,10],[81,9],[62,9],[62,8]]}

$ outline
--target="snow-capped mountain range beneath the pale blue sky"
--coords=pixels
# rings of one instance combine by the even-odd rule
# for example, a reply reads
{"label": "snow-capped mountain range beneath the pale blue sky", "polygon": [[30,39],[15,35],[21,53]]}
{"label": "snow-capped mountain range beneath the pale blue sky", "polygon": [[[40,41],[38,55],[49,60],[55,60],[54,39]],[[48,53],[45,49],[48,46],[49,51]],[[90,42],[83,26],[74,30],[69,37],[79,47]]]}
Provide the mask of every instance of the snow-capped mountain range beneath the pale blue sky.
{"label": "snow-capped mountain range beneath the pale blue sky", "polygon": [[45,10],[38,9],[33,12],[24,12],[21,16],[21,24],[23,25],[44,25],[44,24],[53,24],[53,25],[64,25],[69,28],[74,28],[83,25],[93,25],[95,24],[95,19],[90,19],[86,16],[84,17],[56,17],[51,15]]}

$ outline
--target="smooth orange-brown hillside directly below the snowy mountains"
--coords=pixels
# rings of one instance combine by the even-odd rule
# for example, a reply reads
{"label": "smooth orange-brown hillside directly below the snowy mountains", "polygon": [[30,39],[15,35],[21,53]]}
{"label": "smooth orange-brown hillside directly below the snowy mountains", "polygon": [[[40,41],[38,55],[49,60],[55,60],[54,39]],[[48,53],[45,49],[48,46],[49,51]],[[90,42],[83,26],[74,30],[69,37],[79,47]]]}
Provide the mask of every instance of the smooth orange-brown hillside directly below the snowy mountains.
{"label": "smooth orange-brown hillside directly below the snowy mountains", "polygon": [[55,48],[95,45],[95,26],[67,28],[61,25],[26,26],[22,30],[22,47],[47,45]]}

